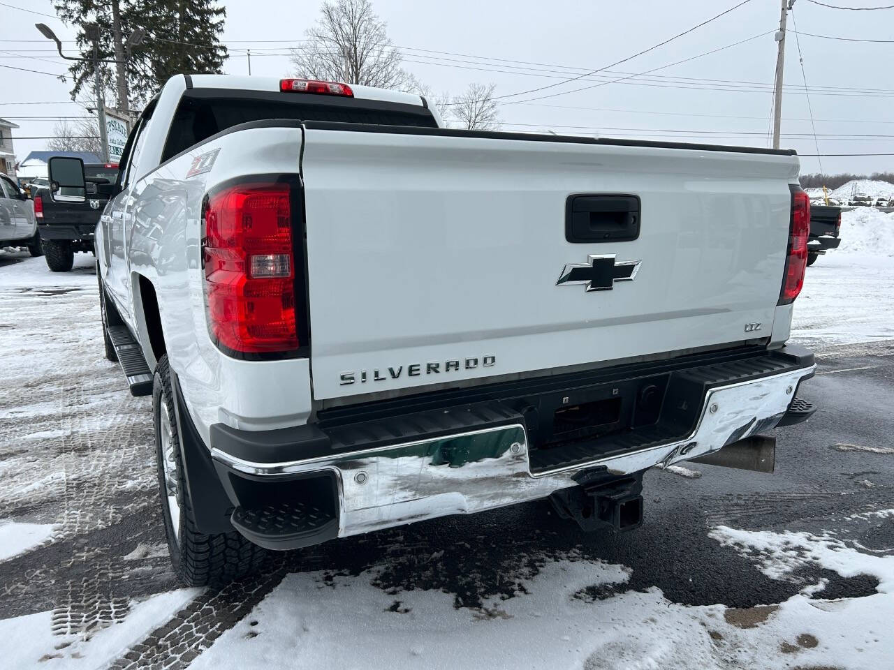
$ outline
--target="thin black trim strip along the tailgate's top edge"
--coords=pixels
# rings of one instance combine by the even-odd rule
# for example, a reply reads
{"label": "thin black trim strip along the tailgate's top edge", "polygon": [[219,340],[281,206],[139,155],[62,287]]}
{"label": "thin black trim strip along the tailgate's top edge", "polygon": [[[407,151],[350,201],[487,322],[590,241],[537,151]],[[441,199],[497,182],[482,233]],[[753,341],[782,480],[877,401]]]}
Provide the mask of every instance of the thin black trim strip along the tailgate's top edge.
{"label": "thin black trim strip along the tailgate's top edge", "polygon": [[379,132],[394,135],[427,135],[446,138],[480,138],[525,140],[527,142],[561,142],[565,144],[595,144],[610,147],[653,147],[687,149],[689,151],[723,151],[736,154],[797,155],[795,149],[764,147],[735,147],[719,144],[690,144],[687,142],[659,142],[652,139],[585,138],[576,135],[538,135],[536,133],[503,132],[499,130],[461,130],[453,128],[417,128],[413,126],[367,125],[336,121],[304,121],[308,130],[350,130],[351,132]]}

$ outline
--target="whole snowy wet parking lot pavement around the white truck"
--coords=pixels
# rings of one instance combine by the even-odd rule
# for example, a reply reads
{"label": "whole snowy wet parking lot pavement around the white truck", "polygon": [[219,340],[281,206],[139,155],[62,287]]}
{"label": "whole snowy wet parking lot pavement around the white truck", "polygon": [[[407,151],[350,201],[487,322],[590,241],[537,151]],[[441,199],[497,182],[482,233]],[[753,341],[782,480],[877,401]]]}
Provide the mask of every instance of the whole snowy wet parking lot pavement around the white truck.
{"label": "whole snowy wet parking lot pavement around the white truck", "polygon": [[92,256],[0,252],[0,667],[891,667],[894,217],[847,215],[854,248],[808,269],[793,324],[823,410],[780,429],[775,475],[650,472],[620,537],[536,503],[219,591],[170,572],[150,404],[103,357]]}

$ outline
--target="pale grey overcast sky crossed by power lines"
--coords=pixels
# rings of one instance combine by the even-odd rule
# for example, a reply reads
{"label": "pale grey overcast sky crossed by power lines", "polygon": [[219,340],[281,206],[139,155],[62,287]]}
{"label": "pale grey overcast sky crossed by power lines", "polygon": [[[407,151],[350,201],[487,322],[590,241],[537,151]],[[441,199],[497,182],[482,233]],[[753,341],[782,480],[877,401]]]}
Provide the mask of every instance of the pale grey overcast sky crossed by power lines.
{"label": "pale grey overcast sky crossed by power lines", "polygon": [[[54,125],[52,119],[21,117],[72,115],[80,113],[80,107],[63,102],[69,100],[69,82],[10,66],[63,72],[63,61],[53,55],[53,45],[41,38],[34,23],[46,22],[63,40],[72,39],[73,33],[56,19],[4,6],[52,15],[50,0],[2,2],[0,65],[6,67],[0,67],[0,116],[21,126],[16,131],[20,139],[15,141],[21,160],[30,150],[46,148],[45,139],[24,138],[51,135]],[[828,2],[885,4],[879,0]],[[223,41],[232,51],[225,71],[247,73],[244,50],[250,47],[253,74],[288,73],[290,63],[285,53],[289,41],[302,38],[308,25],[316,21],[319,4],[295,0],[226,2]],[[376,13],[387,21],[394,44],[404,49],[406,69],[435,91],[456,93],[470,82],[493,82],[496,95],[509,96],[637,54],[738,4],[738,0],[373,0],[373,4]],[[589,80],[509,96],[502,102],[513,104],[500,108],[503,129],[768,146],[776,61],[772,31],[779,26],[779,16],[777,0],[750,0],[666,46],[610,68],[611,74],[600,72]],[[782,147],[793,147],[805,155],[802,172],[819,169],[817,158],[807,154],[894,153],[894,10],[848,12],[797,0],[794,19],[802,33],[892,41],[800,36],[807,83],[814,89],[810,103],[819,135],[817,152],[795,34],[789,32],[785,83],[790,88],[783,96]],[[755,38],[762,33],[767,34]],[[754,39],[650,75],[556,95],[624,76],[618,73],[660,68],[748,38]],[[33,51],[36,49],[46,53]],[[549,97],[515,102],[539,96]],[[34,102],[43,104],[18,104]],[[855,137],[866,135],[890,138]],[[891,171],[894,156],[824,157],[822,168],[827,173]]]}

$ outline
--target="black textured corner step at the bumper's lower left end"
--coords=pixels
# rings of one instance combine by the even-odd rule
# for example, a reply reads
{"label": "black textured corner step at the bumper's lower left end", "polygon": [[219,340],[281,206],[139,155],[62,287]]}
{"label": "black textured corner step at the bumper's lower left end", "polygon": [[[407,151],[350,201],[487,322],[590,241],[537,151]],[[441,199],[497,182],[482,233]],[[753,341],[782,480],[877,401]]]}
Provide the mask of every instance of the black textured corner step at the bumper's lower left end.
{"label": "black textured corner step at the bumper's lower left end", "polygon": [[299,549],[331,540],[338,519],[308,502],[274,502],[252,509],[236,507],[233,526],[248,540],[266,549]]}

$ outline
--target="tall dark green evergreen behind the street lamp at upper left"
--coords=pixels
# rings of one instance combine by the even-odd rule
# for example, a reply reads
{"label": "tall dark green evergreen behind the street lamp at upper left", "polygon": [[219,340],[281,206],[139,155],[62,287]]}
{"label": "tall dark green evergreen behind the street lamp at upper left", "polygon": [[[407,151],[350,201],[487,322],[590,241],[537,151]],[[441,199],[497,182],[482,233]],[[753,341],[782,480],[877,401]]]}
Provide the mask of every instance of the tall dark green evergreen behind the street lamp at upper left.
{"label": "tall dark green evergreen behind the street lamp at upper left", "polygon": [[[120,109],[145,102],[174,74],[220,72],[227,57],[220,43],[226,10],[215,0],[54,0],[54,6],[64,23],[78,29],[77,50],[83,60],[69,67],[72,100],[85,87],[93,96],[93,43],[84,34],[87,23],[99,26],[99,58],[111,61],[99,65],[103,86],[115,91]],[[125,54],[127,38],[138,28],[146,37]]]}

